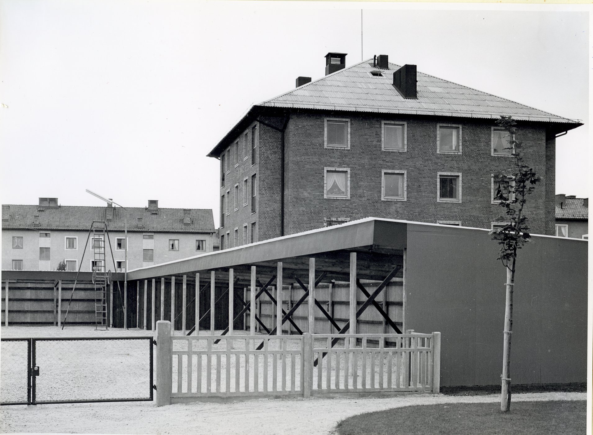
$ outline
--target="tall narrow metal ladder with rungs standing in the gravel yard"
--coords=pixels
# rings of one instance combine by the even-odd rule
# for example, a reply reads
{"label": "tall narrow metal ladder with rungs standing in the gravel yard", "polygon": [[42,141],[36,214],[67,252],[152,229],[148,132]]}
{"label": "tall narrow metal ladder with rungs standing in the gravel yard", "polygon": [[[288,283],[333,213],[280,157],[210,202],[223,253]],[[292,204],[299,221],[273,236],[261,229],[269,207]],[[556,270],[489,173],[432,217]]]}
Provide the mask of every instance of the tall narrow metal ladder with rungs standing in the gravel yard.
{"label": "tall narrow metal ladder with rungs standing in the gravel yard", "polygon": [[95,286],[95,331],[107,331],[107,286],[109,275],[105,264],[106,224],[101,221],[93,222],[93,284]]}

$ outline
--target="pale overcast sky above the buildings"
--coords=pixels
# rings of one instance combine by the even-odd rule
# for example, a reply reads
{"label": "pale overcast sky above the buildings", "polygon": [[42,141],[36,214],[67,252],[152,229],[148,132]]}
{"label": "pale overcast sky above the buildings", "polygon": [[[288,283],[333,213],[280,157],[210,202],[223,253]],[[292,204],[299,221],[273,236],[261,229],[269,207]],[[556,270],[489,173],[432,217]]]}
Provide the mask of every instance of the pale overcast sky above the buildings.
{"label": "pale overcast sky above the buildings", "polygon": [[556,141],[556,192],[588,196],[588,12],[547,6],[4,0],[2,203],[103,205],[88,188],[218,222],[205,155],[327,52],[361,61],[361,7],[365,59],[584,120]]}

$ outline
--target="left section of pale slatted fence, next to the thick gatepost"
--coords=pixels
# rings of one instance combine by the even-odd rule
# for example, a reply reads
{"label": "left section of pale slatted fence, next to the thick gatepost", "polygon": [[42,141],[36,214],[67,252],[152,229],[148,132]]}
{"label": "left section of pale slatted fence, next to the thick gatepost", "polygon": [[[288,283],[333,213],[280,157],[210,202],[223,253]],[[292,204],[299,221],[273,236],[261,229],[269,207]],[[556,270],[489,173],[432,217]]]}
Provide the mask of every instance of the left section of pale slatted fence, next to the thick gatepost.
{"label": "left section of pale slatted fence, next to the thick gatepost", "polygon": [[[173,336],[171,398],[302,395],[303,339]],[[262,344],[261,350],[257,347]]]}

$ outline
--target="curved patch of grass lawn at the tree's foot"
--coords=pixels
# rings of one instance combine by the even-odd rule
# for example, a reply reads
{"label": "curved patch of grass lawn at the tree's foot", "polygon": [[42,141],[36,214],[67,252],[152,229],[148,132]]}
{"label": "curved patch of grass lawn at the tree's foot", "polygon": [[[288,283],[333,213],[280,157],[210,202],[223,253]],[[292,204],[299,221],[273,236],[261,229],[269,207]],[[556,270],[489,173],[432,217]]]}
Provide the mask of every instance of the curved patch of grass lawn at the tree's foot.
{"label": "curved patch of grass lawn at the tree's foot", "polygon": [[586,401],[457,403],[387,409],[354,415],[337,424],[339,435],[584,434]]}

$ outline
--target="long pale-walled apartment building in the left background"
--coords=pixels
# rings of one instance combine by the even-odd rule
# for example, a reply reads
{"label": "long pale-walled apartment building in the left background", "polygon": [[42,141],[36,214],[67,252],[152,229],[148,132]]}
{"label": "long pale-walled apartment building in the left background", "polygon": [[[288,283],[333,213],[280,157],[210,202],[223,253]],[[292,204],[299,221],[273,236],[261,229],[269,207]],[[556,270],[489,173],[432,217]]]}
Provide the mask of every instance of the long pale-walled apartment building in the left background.
{"label": "long pale-walled apartment building in the left background", "polygon": [[[148,201],[146,208],[126,210],[128,269],[212,251],[212,209],[159,208],[158,201]],[[2,205],[2,269],[53,271],[64,262],[69,271],[79,266],[92,271],[95,240],[89,230],[93,221],[106,221],[106,270],[124,271],[124,212],[119,207],[62,206],[58,198]]]}

